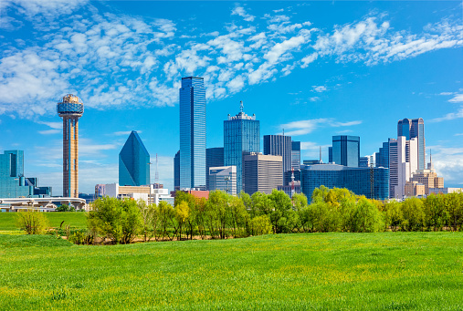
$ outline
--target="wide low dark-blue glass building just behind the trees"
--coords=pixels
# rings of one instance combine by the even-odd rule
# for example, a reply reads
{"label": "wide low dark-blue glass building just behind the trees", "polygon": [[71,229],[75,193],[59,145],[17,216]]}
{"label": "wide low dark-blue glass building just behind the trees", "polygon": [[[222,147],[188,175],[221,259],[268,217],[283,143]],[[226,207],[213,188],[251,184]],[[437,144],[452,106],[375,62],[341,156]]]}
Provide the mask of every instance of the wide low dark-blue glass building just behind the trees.
{"label": "wide low dark-blue glass building just behind the trees", "polygon": [[338,164],[307,165],[300,171],[301,192],[308,198],[315,188],[347,188],[369,199],[389,197],[389,169],[353,168]]}

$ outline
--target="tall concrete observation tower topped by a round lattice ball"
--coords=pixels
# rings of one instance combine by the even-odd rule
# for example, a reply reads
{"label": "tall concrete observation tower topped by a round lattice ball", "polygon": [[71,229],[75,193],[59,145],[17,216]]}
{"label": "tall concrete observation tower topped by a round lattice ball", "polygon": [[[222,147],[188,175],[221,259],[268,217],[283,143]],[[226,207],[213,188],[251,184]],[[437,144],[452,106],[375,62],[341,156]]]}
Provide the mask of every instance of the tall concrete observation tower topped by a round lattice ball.
{"label": "tall concrete observation tower topped by a round lattice ball", "polygon": [[63,119],[63,197],[79,197],[79,118],[84,113],[82,100],[66,95],[57,105]]}

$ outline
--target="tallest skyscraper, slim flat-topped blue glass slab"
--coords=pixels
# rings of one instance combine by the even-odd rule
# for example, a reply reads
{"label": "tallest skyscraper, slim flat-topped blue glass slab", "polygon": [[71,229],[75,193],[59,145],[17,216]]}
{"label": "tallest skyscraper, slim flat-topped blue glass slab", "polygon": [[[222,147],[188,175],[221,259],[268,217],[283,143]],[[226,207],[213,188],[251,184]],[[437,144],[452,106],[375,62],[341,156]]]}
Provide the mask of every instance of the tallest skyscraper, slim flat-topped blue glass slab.
{"label": "tallest skyscraper, slim flat-topped blue glass slab", "polygon": [[205,82],[182,78],[180,92],[180,189],[205,189]]}

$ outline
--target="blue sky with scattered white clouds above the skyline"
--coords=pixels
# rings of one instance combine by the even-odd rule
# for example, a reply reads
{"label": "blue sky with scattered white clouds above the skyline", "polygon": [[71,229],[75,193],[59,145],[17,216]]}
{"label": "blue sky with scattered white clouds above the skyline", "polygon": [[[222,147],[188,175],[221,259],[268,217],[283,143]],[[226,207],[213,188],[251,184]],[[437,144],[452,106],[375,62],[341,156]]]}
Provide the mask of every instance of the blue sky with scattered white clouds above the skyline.
{"label": "blue sky with scattered white clouds above the skyline", "polygon": [[[118,154],[138,130],[172,189],[178,88],[205,78],[207,147],[223,120],[247,114],[261,135],[302,142],[327,161],[331,136],[361,137],[362,155],[423,118],[426,151],[446,186],[463,187],[460,1],[0,2],[0,152],[25,150],[27,176],[62,192],[56,104],[85,104],[79,191],[118,181]],[[152,168],[154,181],[154,165]]]}

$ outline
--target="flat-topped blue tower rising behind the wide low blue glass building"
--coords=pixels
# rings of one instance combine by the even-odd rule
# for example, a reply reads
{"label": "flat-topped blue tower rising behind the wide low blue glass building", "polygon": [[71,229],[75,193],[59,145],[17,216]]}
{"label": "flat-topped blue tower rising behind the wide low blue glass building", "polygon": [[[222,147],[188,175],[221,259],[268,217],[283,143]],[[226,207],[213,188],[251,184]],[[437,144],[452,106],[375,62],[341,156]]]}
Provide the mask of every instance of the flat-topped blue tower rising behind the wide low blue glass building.
{"label": "flat-topped blue tower rising behind the wide low blue glass building", "polygon": [[332,161],[336,164],[359,167],[360,137],[358,136],[333,136],[332,137]]}

